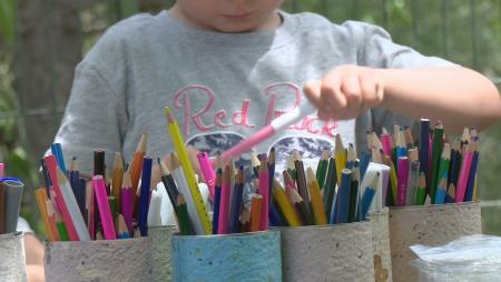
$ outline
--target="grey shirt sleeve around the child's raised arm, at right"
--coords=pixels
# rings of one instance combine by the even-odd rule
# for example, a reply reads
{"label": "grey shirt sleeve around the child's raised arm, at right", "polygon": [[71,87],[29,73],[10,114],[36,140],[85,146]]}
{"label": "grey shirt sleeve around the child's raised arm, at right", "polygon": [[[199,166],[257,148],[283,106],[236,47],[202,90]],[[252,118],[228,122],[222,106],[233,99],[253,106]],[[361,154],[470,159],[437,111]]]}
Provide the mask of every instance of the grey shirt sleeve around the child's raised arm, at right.
{"label": "grey shirt sleeve around the child's raised arm, at right", "polygon": [[[421,54],[414,49],[392,41],[390,33],[381,27],[347,21],[343,24],[355,39],[357,62],[360,66],[384,69],[425,68],[456,66],[438,57]],[[384,108],[371,110],[372,129],[381,133],[382,128],[393,131],[393,124],[410,125],[415,129],[418,122],[399,115]]]}

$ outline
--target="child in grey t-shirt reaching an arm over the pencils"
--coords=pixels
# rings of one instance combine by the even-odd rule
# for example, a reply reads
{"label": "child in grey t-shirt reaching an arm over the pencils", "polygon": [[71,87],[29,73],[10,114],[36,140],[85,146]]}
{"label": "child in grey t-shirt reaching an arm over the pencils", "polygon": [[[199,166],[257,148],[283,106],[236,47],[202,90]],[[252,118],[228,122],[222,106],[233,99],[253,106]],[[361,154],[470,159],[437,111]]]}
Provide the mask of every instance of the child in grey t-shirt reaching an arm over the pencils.
{"label": "child in grey t-shirt reaching an arm over the pencils", "polygon": [[94,150],[130,161],[145,132],[150,155],[171,151],[166,105],[187,144],[210,155],[308,100],[318,117],[256,151],[317,158],[337,133],[360,150],[367,129],[422,115],[454,132],[501,117],[498,90],[481,74],[393,43],[379,27],[289,14],[282,2],[178,0],[115,24],[77,67],[56,142],[90,172]]}

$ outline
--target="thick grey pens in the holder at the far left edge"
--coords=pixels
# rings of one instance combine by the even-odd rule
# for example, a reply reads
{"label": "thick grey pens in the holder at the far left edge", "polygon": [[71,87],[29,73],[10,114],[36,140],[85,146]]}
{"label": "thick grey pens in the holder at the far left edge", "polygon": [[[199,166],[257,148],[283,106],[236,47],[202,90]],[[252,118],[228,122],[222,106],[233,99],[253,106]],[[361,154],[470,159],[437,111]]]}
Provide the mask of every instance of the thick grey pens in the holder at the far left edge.
{"label": "thick grey pens in the holder at the far left edge", "polygon": [[6,165],[0,162],[0,234],[16,232],[22,199],[22,182],[4,178]]}

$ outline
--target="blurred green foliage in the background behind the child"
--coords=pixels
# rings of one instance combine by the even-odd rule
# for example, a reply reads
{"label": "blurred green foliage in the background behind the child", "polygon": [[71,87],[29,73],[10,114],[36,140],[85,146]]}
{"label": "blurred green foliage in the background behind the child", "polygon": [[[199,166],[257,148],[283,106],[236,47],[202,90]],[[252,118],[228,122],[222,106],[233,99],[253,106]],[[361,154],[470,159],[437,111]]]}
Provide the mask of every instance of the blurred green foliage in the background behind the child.
{"label": "blurred green foliage in the background behind the child", "polygon": [[[79,11],[86,52],[114,22],[139,11],[141,0],[95,1]],[[150,1],[151,2],[151,1]],[[173,4],[160,2],[164,8]],[[13,51],[17,44],[17,0],[0,1],[0,161],[8,173],[37,185],[37,160],[27,155],[22,144],[19,107],[12,88]],[[57,6],[53,9],[58,9]],[[425,54],[443,57],[473,68],[501,84],[501,1],[500,0],[286,0],[289,12],[310,11],[334,22],[362,20],[384,27],[394,41]],[[479,184],[482,200],[500,200],[501,124],[482,133]],[[31,193],[30,190],[28,192]],[[482,210],[484,231],[501,234],[500,208]],[[24,205],[22,214],[40,230],[35,207]]]}

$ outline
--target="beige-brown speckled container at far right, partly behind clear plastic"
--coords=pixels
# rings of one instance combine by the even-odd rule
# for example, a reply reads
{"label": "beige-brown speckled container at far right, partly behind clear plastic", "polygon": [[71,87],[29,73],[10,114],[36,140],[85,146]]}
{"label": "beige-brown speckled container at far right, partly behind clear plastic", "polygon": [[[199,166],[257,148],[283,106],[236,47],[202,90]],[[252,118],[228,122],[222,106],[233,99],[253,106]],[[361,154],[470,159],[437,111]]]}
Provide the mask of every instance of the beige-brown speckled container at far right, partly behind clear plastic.
{"label": "beige-brown speckled container at far right, partly behind clear plastic", "polygon": [[409,246],[442,245],[463,235],[482,233],[480,203],[390,208],[390,248],[394,281],[419,281]]}

